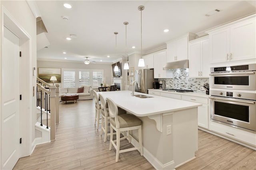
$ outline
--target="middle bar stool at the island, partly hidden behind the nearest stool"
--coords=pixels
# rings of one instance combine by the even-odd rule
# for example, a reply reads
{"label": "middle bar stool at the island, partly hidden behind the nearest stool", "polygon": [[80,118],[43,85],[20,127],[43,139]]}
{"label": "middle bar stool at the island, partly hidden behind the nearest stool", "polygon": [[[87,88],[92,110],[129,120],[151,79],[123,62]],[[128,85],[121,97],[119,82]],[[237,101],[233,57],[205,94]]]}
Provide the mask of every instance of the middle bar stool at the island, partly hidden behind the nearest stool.
{"label": "middle bar stool at the island, partly hidden behind the nearest stool", "polygon": [[[102,132],[105,133],[104,136],[104,142],[107,141],[107,136],[110,135],[110,133],[108,133],[108,123],[110,123],[110,116],[109,116],[109,112],[108,112],[108,104],[106,101],[106,98],[99,93],[99,97],[100,97],[100,107],[101,107],[101,130],[100,130],[100,135],[102,135]],[[121,109],[120,107],[118,107],[118,115],[121,114],[125,114],[126,111],[124,109]]]}

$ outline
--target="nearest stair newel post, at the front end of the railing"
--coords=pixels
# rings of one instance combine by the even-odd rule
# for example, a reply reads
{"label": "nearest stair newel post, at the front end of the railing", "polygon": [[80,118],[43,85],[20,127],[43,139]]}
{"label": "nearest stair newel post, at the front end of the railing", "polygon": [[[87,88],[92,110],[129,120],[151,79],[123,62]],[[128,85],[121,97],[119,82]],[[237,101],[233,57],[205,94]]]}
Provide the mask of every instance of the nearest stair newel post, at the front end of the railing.
{"label": "nearest stair newel post, at the front end of the railing", "polygon": [[56,86],[50,86],[50,139],[55,140],[55,123],[56,123]]}

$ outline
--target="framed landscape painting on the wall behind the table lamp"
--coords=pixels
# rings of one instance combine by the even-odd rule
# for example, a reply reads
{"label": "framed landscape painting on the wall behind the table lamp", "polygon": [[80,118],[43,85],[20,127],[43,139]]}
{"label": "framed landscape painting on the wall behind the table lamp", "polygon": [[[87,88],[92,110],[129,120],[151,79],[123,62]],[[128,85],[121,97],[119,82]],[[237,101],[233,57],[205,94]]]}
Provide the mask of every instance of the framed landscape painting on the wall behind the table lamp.
{"label": "framed landscape painting on the wall behind the table lamp", "polygon": [[38,68],[39,79],[42,79],[46,83],[52,83],[52,81],[50,81],[50,78],[52,76],[55,76],[57,79],[57,81],[54,81],[54,83],[60,83],[61,82],[61,69],[59,69],[59,68]]}

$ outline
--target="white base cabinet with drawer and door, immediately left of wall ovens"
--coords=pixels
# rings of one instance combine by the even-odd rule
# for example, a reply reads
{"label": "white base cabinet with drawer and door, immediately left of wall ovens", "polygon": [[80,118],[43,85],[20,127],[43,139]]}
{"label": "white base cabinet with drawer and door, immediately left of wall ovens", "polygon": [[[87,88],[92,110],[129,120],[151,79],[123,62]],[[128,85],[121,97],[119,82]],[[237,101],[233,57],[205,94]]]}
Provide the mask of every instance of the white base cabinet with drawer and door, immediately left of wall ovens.
{"label": "white base cabinet with drawer and door, immediately left of wall ovens", "polygon": [[208,121],[209,121],[208,100],[209,99],[203,98],[203,97],[187,96],[187,95],[182,95],[181,99],[185,101],[192,101],[192,102],[203,104],[202,106],[198,107],[198,126],[208,129]]}

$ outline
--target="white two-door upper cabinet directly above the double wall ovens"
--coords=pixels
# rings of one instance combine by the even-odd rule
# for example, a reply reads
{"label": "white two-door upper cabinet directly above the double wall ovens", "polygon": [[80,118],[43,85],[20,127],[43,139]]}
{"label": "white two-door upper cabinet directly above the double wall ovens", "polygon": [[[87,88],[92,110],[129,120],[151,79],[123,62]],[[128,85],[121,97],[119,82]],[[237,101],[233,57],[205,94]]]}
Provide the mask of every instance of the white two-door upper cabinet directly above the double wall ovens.
{"label": "white two-door upper cabinet directly above the double wall ovens", "polygon": [[210,63],[256,59],[255,15],[214,28],[210,38]]}

